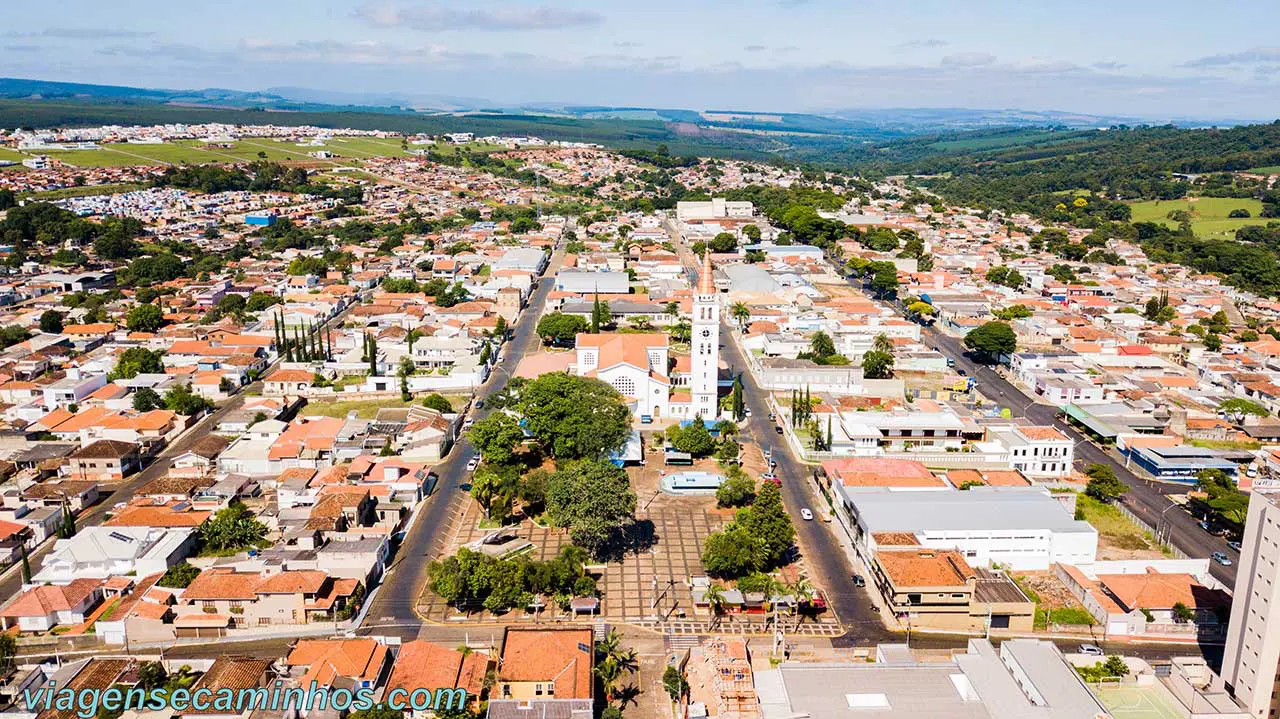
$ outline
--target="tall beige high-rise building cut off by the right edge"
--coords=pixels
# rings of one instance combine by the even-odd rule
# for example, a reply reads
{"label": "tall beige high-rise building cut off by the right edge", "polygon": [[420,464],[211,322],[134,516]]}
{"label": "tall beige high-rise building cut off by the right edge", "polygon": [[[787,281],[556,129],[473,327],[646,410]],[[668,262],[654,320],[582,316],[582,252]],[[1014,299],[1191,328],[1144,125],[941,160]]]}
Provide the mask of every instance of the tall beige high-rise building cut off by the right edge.
{"label": "tall beige high-rise building cut off by the right edge", "polygon": [[1231,622],[1222,654],[1226,690],[1253,716],[1274,716],[1280,674],[1280,505],[1253,494],[1235,574]]}

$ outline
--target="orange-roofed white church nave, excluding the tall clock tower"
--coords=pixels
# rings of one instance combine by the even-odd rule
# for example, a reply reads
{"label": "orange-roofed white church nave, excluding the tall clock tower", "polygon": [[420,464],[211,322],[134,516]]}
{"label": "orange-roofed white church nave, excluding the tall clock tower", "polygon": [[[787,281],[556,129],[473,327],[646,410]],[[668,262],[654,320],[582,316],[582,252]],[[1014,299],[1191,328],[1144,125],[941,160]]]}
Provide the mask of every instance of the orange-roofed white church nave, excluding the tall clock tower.
{"label": "orange-roofed white church nave, excluding the tall clock tower", "polygon": [[667,335],[579,334],[577,374],[618,390],[637,416],[671,416]]}

